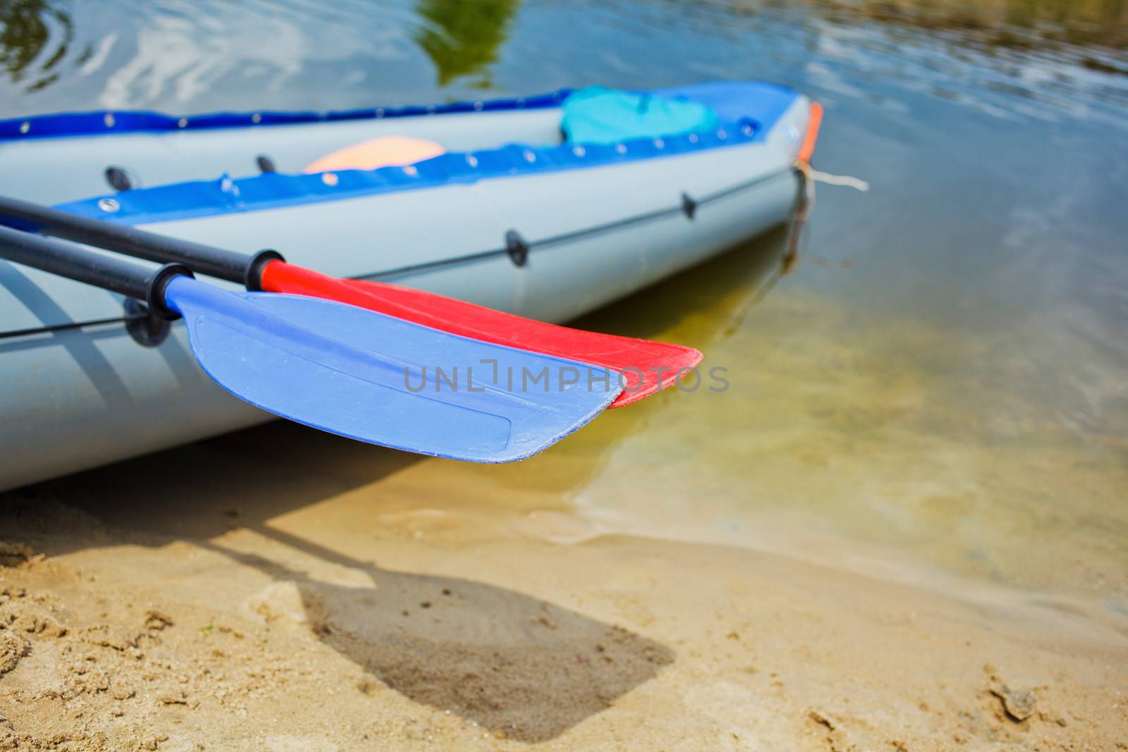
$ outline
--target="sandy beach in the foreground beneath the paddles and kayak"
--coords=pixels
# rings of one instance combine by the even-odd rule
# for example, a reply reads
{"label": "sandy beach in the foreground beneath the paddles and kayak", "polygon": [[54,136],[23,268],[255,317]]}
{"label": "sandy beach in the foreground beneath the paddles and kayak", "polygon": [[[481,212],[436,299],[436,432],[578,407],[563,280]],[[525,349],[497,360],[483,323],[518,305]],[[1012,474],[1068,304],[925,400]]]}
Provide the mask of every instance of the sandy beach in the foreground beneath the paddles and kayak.
{"label": "sandy beach in the foreground beneath the paddles and kayak", "polygon": [[1123,749],[1128,619],[464,467],[272,424],[8,494],[0,749]]}

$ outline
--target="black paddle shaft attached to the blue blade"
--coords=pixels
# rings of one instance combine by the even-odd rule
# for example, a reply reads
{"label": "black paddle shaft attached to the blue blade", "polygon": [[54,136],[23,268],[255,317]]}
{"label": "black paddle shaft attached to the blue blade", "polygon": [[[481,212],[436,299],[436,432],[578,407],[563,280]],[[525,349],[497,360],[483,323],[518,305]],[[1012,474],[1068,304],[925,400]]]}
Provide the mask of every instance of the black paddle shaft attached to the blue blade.
{"label": "black paddle shaft attached to the blue blade", "polygon": [[149,269],[69,242],[2,225],[0,258],[143,300],[149,310],[164,318],[178,316],[165,303],[165,285],[178,274],[192,276],[192,271],[182,264]]}

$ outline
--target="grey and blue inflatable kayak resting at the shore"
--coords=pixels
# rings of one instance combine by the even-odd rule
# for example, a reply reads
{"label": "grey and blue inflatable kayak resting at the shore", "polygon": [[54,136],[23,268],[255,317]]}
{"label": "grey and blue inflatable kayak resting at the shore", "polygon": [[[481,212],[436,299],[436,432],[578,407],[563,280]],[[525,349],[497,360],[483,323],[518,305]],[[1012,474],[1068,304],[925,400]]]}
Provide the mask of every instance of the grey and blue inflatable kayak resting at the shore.
{"label": "grey and blue inflatable kayak resting at the shore", "polygon": [[[714,120],[590,141],[562,123],[572,95],[0,121],[0,194],[202,244],[276,248],[327,274],[546,321],[634,292],[794,209],[793,165],[812,120],[795,91],[751,82],[656,90]],[[441,149],[404,165],[310,169],[382,138]],[[0,260],[0,489],[268,417],[200,371],[182,324],[159,346],[140,345],[123,324],[132,304]]]}

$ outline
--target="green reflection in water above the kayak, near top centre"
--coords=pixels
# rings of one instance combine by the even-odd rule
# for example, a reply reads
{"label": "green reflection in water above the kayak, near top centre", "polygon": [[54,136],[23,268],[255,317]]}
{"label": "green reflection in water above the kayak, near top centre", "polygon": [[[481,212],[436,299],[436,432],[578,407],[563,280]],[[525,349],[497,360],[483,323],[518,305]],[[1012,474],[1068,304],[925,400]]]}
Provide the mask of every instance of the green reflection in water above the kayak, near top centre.
{"label": "green reflection in water above the kayak, near top centre", "polygon": [[438,69],[439,86],[479,74],[474,86],[488,89],[486,69],[497,60],[520,5],[521,0],[422,0],[416,11],[426,24],[415,42]]}

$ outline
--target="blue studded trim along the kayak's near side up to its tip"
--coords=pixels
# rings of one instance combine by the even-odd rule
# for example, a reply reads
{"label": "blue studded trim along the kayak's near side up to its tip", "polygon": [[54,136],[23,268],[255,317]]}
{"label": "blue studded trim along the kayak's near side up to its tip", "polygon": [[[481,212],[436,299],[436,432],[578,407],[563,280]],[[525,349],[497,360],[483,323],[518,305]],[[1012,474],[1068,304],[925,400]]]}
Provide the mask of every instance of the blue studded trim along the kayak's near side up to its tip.
{"label": "blue studded trim along the kayak's near side up to its tip", "polygon": [[[61,204],[58,209],[123,224],[150,224],[470,184],[490,178],[629,163],[763,141],[799,96],[790,89],[761,83],[705,85],[668,89],[662,94],[694,95],[696,98],[699,88],[712,89],[703,91],[705,96],[702,99],[712,107],[720,106],[728,115],[717,131],[638,139],[617,144],[509,144],[500,149],[446,153],[409,167],[381,167],[374,170],[312,175],[266,172],[238,179],[224,175],[218,180],[192,180],[124,191]],[[749,115],[733,117],[740,112]]]}

